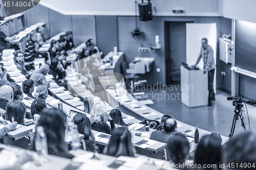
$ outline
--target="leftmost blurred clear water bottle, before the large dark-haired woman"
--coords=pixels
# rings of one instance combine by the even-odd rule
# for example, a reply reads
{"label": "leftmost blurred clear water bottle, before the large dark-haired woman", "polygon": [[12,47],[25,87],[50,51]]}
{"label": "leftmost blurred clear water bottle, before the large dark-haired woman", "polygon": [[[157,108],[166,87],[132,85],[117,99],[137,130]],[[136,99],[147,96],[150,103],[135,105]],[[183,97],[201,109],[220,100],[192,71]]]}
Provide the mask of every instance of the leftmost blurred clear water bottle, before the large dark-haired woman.
{"label": "leftmost blurred clear water bottle, before the large dark-haired woman", "polygon": [[41,156],[48,155],[47,138],[44,127],[36,127],[35,150]]}

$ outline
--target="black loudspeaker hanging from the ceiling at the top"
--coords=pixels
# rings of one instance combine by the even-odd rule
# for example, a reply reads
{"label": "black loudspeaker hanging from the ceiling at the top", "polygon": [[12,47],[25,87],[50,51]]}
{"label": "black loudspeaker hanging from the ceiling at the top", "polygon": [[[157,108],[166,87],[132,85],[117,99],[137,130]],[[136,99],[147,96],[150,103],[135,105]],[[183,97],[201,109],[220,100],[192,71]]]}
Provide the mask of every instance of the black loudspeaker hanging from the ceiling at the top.
{"label": "black loudspeaker hanging from the ceiling at the top", "polygon": [[151,3],[141,3],[139,5],[140,20],[147,21],[152,20],[152,6]]}

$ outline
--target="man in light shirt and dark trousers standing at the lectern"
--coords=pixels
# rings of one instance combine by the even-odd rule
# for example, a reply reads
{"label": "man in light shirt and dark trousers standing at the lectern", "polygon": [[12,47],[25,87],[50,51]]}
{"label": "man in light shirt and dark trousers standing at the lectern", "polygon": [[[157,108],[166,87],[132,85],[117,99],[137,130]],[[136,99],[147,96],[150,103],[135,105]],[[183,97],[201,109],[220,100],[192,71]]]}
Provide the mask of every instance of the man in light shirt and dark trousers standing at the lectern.
{"label": "man in light shirt and dark trousers standing at the lectern", "polygon": [[211,46],[208,45],[208,40],[206,38],[203,38],[201,40],[202,46],[199,53],[199,56],[197,58],[197,62],[195,65],[192,65],[191,68],[195,68],[196,65],[199,63],[201,58],[204,62],[204,74],[208,72],[208,106],[211,106],[211,101],[215,100],[215,94],[214,94],[214,74],[215,74],[215,59],[214,59],[214,51],[212,50]]}

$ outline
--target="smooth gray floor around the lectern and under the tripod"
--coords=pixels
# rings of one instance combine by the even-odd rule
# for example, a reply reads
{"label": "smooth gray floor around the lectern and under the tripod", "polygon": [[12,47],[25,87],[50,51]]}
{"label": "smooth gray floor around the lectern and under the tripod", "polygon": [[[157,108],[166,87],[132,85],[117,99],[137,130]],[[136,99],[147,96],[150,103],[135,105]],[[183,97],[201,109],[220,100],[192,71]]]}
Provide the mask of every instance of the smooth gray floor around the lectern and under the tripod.
{"label": "smooth gray floor around the lectern and under the tripod", "polygon": [[[216,95],[216,101],[212,102],[212,106],[188,108],[181,103],[181,100],[178,100],[177,98],[175,100],[167,100],[167,95],[166,99],[163,97],[163,99],[160,100],[161,94],[162,96],[164,96],[164,94],[169,94],[169,96],[176,94],[176,96],[178,96],[178,92],[181,92],[179,89],[174,91],[161,91],[160,89],[148,89],[142,91],[151,94],[151,100],[154,102],[154,104],[150,107],[162,112],[163,114],[172,115],[181,122],[192,126],[198,126],[199,128],[210,132],[218,131],[224,136],[228,136],[230,134],[234,116],[234,106],[232,105],[232,101],[227,101],[227,96],[229,95],[224,92],[220,91],[219,93],[221,94]],[[155,98],[153,98],[154,94],[156,94]],[[157,99],[158,94],[160,98],[159,100]],[[245,104],[243,103],[243,105]],[[250,130],[256,131],[256,107],[247,104],[247,109],[250,120]],[[242,115],[244,116],[246,130],[249,130],[246,107],[244,106],[242,110],[244,110]],[[241,119],[239,118],[236,123],[234,135],[242,131],[243,128],[241,126]]]}

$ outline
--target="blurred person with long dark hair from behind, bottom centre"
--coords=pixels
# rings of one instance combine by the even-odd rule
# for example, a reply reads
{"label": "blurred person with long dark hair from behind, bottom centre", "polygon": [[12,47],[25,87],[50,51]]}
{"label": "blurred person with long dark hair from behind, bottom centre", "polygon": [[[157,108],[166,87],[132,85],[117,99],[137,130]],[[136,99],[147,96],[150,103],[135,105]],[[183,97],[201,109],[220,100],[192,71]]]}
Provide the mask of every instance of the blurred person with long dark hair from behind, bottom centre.
{"label": "blurred person with long dark hair from behind, bottom centre", "polygon": [[131,138],[131,133],[126,127],[119,127],[115,129],[110,138],[108,147],[106,147],[104,151],[104,154],[115,157],[134,157],[135,150],[133,148]]}

